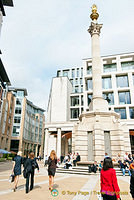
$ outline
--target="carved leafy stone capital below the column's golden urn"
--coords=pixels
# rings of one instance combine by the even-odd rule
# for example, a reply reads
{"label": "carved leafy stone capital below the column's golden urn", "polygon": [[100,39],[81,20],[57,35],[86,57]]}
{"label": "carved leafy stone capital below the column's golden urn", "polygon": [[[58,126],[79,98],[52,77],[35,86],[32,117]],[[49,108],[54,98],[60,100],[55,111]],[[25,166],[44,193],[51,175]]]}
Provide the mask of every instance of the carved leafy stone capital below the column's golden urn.
{"label": "carved leafy stone capital below the column's golden urn", "polygon": [[89,26],[88,32],[93,36],[94,34],[100,35],[100,30],[102,28],[102,24],[97,24],[91,22],[91,26]]}

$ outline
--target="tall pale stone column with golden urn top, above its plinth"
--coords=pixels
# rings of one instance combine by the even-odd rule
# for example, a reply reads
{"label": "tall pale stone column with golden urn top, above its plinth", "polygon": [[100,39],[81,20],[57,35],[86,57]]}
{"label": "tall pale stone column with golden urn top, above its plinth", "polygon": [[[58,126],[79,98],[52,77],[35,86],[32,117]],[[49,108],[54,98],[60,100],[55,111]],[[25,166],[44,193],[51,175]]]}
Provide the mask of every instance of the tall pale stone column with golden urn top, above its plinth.
{"label": "tall pale stone column with golden urn top, above its plinth", "polygon": [[88,32],[91,34],[92,41],[92,81],[93,81],[93,98],[89,105],[90,111],[107,111],[108,103],[102,97],[102,79],[101,79],[101,57],[100,57],[100,30],[102,24],[97,23],[99,14],[97,13],[97,7],[94,4],[92,6],[92,14],[90,18],[92,19],[91,25]]}

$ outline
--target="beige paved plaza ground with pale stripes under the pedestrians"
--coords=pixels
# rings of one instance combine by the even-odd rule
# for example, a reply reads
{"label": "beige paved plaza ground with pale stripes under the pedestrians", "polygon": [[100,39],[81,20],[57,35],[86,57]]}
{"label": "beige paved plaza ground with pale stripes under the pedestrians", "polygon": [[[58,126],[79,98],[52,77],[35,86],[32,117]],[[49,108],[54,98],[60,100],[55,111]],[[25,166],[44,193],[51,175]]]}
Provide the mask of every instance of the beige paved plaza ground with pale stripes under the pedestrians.
{"label": "beige paved plaza ground with pale stripes under the pedestrians", "polygon": [[[0,163],[0,199],[1,200],[97,200],[97,192],[100,190],[99,175],[70,175],[56,174],[54,189],[58,196],[52,196],[48,190],[47,169],[43,162],[38,162],[40,172],[35,173],[35,187],[25,194],[25,179],[20,176],[16,192],[12,192],[13,183],[8,179],[11,174],[12,162]],[[122,200],[131,200],[129,193],[130,177],[118,177]]]}

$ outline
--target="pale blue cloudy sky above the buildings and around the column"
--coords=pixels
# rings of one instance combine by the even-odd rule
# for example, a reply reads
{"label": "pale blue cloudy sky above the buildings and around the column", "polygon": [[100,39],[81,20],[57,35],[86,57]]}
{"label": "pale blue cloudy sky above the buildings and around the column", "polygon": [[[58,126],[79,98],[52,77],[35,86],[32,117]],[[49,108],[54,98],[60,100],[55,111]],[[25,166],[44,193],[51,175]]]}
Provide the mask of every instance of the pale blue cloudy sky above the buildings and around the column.
{"label": "pale blue cloudy sky above the buildings and around the column", "polygon": [[1,31],[2,61],[14,87],[47,109],[57,69],[82,66],[91,57],[93,3],[103,23],[101,55],[134,52],[134,0],[13,0],[5,7]]}

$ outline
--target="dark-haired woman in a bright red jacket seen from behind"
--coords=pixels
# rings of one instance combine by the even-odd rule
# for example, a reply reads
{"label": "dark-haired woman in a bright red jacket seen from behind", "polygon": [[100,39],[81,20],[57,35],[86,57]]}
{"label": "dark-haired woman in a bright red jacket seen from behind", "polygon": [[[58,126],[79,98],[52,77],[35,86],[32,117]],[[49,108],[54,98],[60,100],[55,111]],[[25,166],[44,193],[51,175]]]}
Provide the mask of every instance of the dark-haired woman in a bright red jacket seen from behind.
{"label": "dark-haired woman in a bright red jacket seen from behind", "polygon": [[113,169],[112,159],[110,157],[104,159],[100,180],[103,200],[120,200],[120,189],[117,183],[115,169]]}

